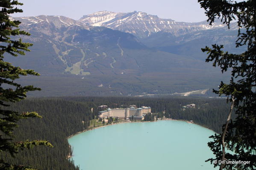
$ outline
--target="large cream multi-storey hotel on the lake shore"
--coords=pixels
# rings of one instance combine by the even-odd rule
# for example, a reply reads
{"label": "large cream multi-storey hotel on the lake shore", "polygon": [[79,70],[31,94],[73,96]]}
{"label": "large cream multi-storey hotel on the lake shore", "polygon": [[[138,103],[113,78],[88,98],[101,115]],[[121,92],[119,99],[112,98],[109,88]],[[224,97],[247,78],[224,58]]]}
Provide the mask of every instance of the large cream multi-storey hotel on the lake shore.
{"label": "large cream multi-storey hotel on the lake shore", "polygon": [[143,120],[144,115],[147,113],[151,113],[151,107],[140,107],[135,109],[134,107],[126,108],[126,109],[110,109],[98,112],[98,118],[109,118],[109,117],[118,117],[118,118],[126,118],[131,119],[132,117],[136,120]]}

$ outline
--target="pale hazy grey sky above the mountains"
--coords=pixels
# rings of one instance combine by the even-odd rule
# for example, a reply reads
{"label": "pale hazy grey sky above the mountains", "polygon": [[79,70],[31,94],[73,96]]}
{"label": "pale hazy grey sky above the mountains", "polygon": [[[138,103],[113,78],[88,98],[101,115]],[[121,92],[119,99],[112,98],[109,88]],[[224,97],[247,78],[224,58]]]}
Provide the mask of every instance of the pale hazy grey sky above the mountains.
{"label": "pale hazy grey sky above the mountains", "polygon": [[197,22],[206,20],[197,0],[19,0],[24,3],[23,13],[15,17],[63,15],[78,20],[85,14],[98,11],[141,11],[171,18],[176,21]]}

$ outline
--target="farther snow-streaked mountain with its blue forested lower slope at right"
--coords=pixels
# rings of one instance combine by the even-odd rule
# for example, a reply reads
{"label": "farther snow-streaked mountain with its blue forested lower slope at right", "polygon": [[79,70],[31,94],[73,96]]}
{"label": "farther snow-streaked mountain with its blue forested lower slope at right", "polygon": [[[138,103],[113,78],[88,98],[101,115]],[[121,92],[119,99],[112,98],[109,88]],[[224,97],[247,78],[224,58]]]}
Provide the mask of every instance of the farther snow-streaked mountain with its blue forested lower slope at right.
{"label": "farther snow-streaked mountain with its blue forested lower slope at right", "polygon": [[235,53],[245,50],[243,47],[236,49],[233,43],[237,39],[236,23],[231,23],[228,29],[218,19],[209,26],[206,21],[176,22],[145,12],[103,11],[84,15],[79,21],[88,26],[106,26],[114,30],[129,32],[151,48],[200,60],[205,60],[205,55],[200,49],[206,45],[223,44],[225,50]]}

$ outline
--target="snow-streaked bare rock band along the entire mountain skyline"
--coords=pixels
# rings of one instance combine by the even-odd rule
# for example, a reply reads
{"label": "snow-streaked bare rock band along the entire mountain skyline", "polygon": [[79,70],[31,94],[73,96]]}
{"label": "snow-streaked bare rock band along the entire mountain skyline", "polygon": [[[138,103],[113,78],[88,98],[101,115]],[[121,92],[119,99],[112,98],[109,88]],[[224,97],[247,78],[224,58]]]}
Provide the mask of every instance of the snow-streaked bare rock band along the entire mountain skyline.
{"label": "snow-streaked bare rock band along the entire mountain skyline", "polygon": [[[82,26],[85,29],[90,29],[94,26],[104,26],[113,30],[130,33],[138,38],[147,38],[159,32],[167,32],[178,37],[200,30],[226,28],[218,20],[210,26],[206,21],[197,23],[176,22],[172,19],[162,19],[157,15],[137,11],[128,13],[109,11],[94,12],[93,14],[84,15],[79,20],[73,20],[64,16],[47,15],[15,17],[14,19],[20,20],[22,25],[26,27],[32,24],[45,23],[53,23],[57,28],[62,26]],[[232,24],[231,29],[237,29],[235,24]]]}

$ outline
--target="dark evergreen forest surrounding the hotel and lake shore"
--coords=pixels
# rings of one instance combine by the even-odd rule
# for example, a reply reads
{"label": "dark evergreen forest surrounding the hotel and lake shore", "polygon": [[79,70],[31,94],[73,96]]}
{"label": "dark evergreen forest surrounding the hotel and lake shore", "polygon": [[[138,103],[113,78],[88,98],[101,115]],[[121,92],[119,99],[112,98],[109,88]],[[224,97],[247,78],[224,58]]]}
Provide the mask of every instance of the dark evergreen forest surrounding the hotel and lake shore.
{"label": "dark evergreen forest surrounding the hotel and lake shore", "polygon": [[[182,108],[194,103],[196,107]],[[225,99],[210,98],[124,98],[124,97],[62,97],[29,98],[12,104],[10,109],[18,112],[36,111],[42,119],[22,120],[15,130],[16,141],[26,139],[44,139],[53,144],[53,148],[35,147],[24,150],[15,158],[1,153],[3,159],[11,159],[16,164],[29,164],[39,170],[78,170],[68,155],[71,153],[67,137],[86,130],[89,121],[96,118],[98,106],[126,108],[135,104],[138,107],[150,106],[152,112],[167,118],[193,120],[194,123],[208,127],[215,132],[221,131],[229,111]],[[85,153],[86,154],[86,153]]]}

